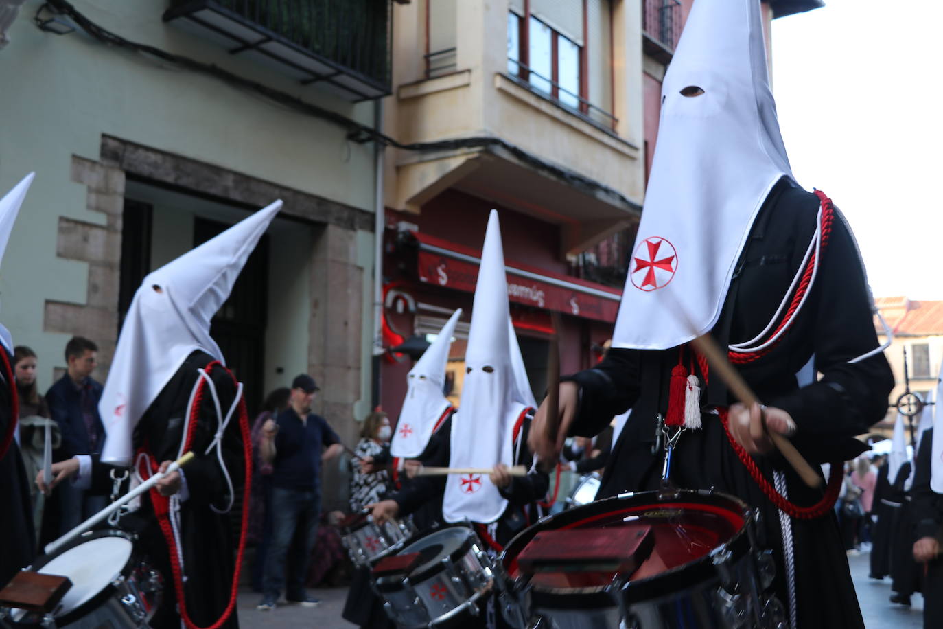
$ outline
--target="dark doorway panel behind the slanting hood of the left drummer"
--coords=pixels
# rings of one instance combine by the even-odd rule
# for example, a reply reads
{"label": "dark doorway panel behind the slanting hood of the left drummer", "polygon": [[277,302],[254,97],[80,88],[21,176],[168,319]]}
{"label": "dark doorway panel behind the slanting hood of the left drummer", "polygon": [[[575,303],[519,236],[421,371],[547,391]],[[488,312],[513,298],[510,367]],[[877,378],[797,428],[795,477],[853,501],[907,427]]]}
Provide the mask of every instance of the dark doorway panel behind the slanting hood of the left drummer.
{"label": "dark doorway panel behind the slanting hood of the left drummer", "polygon": [[[230,225],[196,217],[193,246],[203,244]],[[226,366],[245,387],[249,416],[262,403],[265,386],[265,322],[269,288],[269,237],[262,236],[236,280],[229,299],[213,317],[209,335],[226,358]]]}

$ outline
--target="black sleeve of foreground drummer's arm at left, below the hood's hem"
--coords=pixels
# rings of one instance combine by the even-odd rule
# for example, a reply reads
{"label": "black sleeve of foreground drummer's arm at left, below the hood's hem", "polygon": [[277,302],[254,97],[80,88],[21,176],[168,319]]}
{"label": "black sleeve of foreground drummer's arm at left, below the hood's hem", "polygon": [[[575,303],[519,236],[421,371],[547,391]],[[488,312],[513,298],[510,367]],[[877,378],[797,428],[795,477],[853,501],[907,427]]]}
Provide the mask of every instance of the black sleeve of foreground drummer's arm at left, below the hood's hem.
{"label": "black sleeve of foreground drummer's arm at left, below the hood's hem", "polygon": [[638,398],[639,352],[610,349],[592,369],[560,378],[580,387],[580,401],[571,435],[595,437],[612,418],[635,404]]}

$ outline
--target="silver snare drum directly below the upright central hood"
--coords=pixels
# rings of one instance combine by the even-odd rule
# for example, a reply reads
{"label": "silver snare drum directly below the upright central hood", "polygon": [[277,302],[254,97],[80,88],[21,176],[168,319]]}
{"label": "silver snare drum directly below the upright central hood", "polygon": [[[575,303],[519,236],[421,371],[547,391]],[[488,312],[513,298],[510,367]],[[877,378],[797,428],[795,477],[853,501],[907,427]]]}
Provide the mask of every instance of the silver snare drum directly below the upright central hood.
{"label": "silver snare drum directly below the upright central hood", "polygon": [[373,587],[400,629],[446,629],[482,615],[494,583],[491,560],[478,536],[462,525],[410,539],[377,563],[373,575]]}

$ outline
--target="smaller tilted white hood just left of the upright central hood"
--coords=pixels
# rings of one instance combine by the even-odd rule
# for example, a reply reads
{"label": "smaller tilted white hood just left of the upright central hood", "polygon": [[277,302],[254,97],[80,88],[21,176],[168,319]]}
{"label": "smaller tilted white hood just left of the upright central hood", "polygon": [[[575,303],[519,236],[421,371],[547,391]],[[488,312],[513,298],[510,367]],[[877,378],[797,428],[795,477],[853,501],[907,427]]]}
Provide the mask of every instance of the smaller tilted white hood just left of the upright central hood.
{"label": "smaller tilted white hood just left of the upright central hood", "polygon": [[452,313],[449,321],[438,331],[438,337],[409,370],[406,399],[399,422],[396,422],[393,440],[389,444],[389,452],[393,456],[414,458],[422,455],[436,423],[452,408],[452,403],[442,391],[445,389],[449,348],[452,347],[455,325],[461,316],[461,308]]}

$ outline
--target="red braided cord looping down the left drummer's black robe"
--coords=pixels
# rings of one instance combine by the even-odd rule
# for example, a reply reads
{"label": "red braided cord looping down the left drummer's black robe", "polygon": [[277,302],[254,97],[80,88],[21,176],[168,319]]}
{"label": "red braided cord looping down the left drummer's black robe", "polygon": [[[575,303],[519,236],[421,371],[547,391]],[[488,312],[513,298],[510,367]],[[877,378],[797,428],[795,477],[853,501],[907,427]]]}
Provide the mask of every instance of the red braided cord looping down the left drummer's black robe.
{"label": "red braided cord looping down the left drummer's black robe", "polygon": [[[222,365],[220,361],[214,360],[207,365],[206,372],[207,374],[212,371],[212,368],[215,365]],[[236,381],[236,376],[232,375],[232,372],[229,372],[232,376],[233,383],[238,387],[239,383]],[[206,385],[206,380],[200,378],[197,384],[196,395],[193,396],[193,407],[190,411],[190,426],[187,431],[187,435],[184,440],[184,452],[190,450],[190,446],[193,441],[193,436],[196,432],[196,418],[199,414],[200,404],[203,401],[204,387]],[[233,573],[233,582],[232,589],[229,595],[229,603],[226,605],[223,615],[208,627],[200,627],[190,620],[190,613],[187,611],[187,597],[183,590],[183,571],[180,569],[180,561],[176,553],[176,539],[174,539],[174,529],[171,526],[171,521],[169,517],[169,499],[157,493],[157,490],[151,489],[151,501],[155,505],[154,511],[157,514],[157,521],[160,524],[160,530],[164,534],[164,538],[167,540],[167,546],[170,549],[171,553],[171,570],[174,572],[174,590],[176,591],[177,596],[177,605],[180,608],[180,617],[183,619],[184,624],[188,629],[219,629],[225,621],[229,620],[229,617],[232,615],[233,611],[236,608],[236,596],[239,592],[239,575],[242,568],[242,555],[245,553],[245,539],[246,533],[249,528],[249,501],[251,499],[252,484],[249,482],[249,479],[252,477],[252,438],[249,432],[249,413],[245,407],[245,398],[240,397],[239,402],[239,423],[240,423],[240,433],[242,434],[242,454],[245,460],[245,476],[242,488],[242,517],[240,525],[240,538],[239,538],[239,550],[236,554],[236,570]],[[162,503],[162,513],[158,512],[157,499],[162,499],[159,502]]]}

